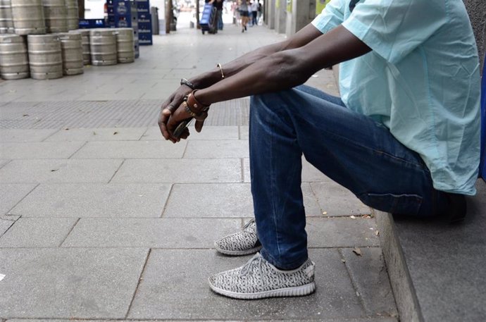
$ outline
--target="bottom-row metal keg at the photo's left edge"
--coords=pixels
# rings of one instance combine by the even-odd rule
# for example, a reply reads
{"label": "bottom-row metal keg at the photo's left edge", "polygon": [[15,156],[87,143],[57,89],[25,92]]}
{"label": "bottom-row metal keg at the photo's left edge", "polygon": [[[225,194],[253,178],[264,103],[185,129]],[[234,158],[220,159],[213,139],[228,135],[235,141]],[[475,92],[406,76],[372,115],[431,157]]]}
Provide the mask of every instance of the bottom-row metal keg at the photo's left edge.
{"label": "bottom-row metal keg at the photo's left edge", "polygon": [[29,77],[29,59],[24,37],[0,35],[0,76],[4,80]]}

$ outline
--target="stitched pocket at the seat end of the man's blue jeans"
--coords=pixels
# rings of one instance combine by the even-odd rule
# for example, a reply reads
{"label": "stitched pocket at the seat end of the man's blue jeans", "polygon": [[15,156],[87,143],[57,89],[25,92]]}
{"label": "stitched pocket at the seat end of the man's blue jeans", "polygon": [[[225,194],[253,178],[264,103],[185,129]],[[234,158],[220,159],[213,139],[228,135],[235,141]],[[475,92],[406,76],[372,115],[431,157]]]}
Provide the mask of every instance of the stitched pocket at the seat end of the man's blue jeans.
{"label": "stitched pocket at the seat end of the man's blue jeans", "polygon": [[423,201],[418,194],[360,194],[358,197],[374,209],[409,216],[418,215]]}

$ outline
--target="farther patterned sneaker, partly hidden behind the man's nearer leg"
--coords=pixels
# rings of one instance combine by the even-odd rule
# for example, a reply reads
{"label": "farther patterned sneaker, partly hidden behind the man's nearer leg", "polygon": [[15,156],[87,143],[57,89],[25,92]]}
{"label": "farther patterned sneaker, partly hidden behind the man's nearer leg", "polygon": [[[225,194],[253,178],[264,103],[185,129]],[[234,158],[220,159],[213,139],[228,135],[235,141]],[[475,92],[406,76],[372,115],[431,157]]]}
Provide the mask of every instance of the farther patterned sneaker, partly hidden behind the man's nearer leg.
{"label": "farther patterned sneaker, partly hidden behind the man's nearer leg", "polygon": [[251,219],[242,230],[216,240],[214,242],[216,250],[222,254],[241,256],[254,254],[261,249],[261,244],[256,235],[256,223]]}

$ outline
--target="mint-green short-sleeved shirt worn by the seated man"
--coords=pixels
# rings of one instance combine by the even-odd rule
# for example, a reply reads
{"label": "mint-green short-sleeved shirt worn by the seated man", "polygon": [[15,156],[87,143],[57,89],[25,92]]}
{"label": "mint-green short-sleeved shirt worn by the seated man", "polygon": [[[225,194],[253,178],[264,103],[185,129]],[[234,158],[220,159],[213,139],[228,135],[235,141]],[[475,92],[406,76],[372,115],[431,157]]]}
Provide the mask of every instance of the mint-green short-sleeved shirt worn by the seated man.
{"label": "mint-green short-sleeved shirt worn by the seated man", "polygon": [[420,154],[435,189],[475,194],[480,74],[463,1],[361,0],[352,12],[349,1],[312,22],[323,33],[342,24],[373,49],[341,63],[342,101]]}

